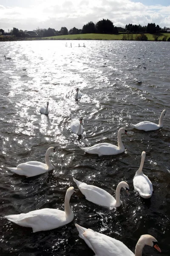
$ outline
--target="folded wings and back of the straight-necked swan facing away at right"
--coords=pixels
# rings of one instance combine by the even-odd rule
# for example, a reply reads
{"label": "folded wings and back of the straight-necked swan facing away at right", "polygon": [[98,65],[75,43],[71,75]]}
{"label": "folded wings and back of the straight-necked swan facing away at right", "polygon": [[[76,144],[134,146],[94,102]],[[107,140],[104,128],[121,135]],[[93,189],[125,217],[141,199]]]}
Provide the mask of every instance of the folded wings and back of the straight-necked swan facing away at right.
{"label": "folded wings and back of the straight-necked swan facing away at right", "polygon": [[133,185],[139,194],[142,193],[145,195],[150,195],[153,192],[152,183],[146,175],[139,175],[134,177]]}

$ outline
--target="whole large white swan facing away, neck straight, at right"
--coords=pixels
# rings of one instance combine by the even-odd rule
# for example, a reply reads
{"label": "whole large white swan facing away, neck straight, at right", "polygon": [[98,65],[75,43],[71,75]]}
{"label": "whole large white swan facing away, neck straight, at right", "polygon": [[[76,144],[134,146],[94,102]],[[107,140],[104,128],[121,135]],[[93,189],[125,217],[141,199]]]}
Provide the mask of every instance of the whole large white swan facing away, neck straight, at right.
{"label": "whole large white swan facing away, neck straight, at right", "polygon": [[145,156],[146,153],[143,151],[140,167],[133,178],[133,186],[142,198],[150,198],[153,192],[153,186],[149,178],[142,172]]}

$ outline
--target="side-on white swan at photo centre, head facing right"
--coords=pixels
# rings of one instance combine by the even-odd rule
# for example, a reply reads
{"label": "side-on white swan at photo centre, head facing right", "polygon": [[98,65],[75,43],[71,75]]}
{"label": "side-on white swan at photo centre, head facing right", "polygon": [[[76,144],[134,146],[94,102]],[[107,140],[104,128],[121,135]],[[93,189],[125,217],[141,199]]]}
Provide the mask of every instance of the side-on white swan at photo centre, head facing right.
{"label": "side-on white swan at photo centre, head facing right", "polygon": [[120,154],[125,151],[125,147],[121,139],[122,133],[127,134],[127,131],[125,130],[125,128],[120,128],[118,131],[118,134],[117,134],[118,146],[113,145],[111,143],[99,143],[89,148],[81,148],[81,149],[89,154],[98,154],[99,156]]}

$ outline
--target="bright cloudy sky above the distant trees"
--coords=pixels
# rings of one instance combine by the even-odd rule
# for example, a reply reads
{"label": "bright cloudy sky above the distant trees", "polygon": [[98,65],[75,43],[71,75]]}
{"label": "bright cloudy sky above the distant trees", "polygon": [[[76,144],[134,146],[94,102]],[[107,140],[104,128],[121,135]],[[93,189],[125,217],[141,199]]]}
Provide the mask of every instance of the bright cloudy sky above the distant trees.
{"label": "bright cloudy sky above the distant trees", "polygon": [[0,29],[5,31],[82,29],[102,18],[121,27],[129,23],[170,27],[170,0],[0,0]]}

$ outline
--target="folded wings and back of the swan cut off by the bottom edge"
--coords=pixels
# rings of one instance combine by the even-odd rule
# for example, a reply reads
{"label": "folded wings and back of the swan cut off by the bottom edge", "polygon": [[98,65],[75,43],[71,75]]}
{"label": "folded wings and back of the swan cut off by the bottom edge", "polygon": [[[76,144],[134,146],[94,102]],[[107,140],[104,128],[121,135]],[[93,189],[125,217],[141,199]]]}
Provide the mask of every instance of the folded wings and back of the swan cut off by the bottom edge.
{"label": "folded wings and back of the swan cut off by the bottom edge", "polygon": [[97,256],[134,256],[134,254],[121,241],[113,239],[93,230],[83,233],[89,241]]}

